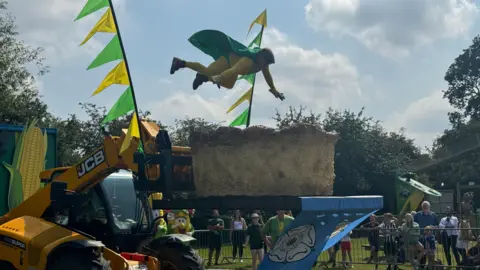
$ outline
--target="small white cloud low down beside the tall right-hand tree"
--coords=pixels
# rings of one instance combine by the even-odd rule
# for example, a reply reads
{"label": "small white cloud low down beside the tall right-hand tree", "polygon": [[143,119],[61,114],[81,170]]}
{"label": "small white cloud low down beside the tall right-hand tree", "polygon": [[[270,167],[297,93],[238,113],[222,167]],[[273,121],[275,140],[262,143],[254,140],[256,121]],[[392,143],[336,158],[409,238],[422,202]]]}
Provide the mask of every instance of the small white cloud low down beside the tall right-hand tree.
{"label": "small white cloud low down beside the tall right-hand tree", "polygon": [[385,121],[390,130],[405,128],[409,137],[423,146],[431,146],[433,139],[448,128],[447,113],[453,111],[443,93],[434,91],[410,103],[401,112],[393,112]]}

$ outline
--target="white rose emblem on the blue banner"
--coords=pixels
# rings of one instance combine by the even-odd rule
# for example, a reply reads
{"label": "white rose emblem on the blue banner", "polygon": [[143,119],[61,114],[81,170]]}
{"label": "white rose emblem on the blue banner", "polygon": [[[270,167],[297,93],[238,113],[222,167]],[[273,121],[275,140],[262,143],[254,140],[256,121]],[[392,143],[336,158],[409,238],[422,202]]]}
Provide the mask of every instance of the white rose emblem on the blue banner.
{"label": "white rose emblem on the blue banner", "polygon": [[312,252],[314,246],[315,227],[303,225],[282,235],[268,253],[268,258],[279,263],[300,261]]}

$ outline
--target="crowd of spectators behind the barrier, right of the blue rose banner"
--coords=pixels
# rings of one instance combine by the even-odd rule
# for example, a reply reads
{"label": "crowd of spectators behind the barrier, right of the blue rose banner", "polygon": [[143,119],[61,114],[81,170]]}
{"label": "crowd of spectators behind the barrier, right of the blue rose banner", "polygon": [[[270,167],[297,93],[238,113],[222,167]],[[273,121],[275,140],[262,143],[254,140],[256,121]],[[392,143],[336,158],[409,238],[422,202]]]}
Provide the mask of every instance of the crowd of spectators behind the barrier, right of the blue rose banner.
{"label": "crowd of spectators behind the barrier, right of the blue rose banner", "polygon": [[[375,262],[376,267],[378,251],[383,244],[387,269],[398,269],[397,264],[404,261],[410,262],[414,269],[425,266],[435,269],[443,264],[436,257],[439,243],[448,266],[452,265],[452,254],[457,266],[480,266],[480,235],[475,237],[469,221],[459,220],[451,208],[446,209],[446,216],[439,221],[430,210],[430,203],[424,201],[421,211],[406,213],[402,220],[386,213],[383,222],[379,223],[373,215],[361,227],[369,231],[369,262]],[[383,243],[380,243],[380,235]]]}

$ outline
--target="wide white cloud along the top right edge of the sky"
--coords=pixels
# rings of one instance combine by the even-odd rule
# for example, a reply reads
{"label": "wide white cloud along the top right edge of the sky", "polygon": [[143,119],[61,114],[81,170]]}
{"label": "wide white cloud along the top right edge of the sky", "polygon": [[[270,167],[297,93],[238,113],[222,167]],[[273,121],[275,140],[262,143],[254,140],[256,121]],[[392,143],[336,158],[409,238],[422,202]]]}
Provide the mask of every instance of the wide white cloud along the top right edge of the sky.
{"label": "wide white cloud along the top right edge of the sky", "polygon": [[332,36],[349,35],[386,57],[468,33],[478,14],[470,0],[309,0],[308,24]]}

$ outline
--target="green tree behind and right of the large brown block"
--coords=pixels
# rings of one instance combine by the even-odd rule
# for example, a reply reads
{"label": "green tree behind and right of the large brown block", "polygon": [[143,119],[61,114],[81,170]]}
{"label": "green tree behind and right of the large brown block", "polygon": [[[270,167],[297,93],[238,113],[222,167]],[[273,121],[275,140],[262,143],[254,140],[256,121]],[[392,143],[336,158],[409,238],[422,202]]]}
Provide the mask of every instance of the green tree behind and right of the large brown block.
{"label": "green tree behind and right of the large brown block", "polygon": [[387,132],[378,121],[349,110],[329,109],[322,117],[306,108],[293,108],[274,120],[279,129],[306,124],[336,132],[340,139],[335,146],[335,195],[389,193],[396,169],[421,156],[411,139],[402,133]]}

